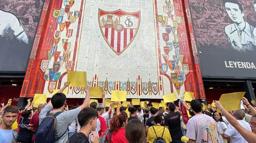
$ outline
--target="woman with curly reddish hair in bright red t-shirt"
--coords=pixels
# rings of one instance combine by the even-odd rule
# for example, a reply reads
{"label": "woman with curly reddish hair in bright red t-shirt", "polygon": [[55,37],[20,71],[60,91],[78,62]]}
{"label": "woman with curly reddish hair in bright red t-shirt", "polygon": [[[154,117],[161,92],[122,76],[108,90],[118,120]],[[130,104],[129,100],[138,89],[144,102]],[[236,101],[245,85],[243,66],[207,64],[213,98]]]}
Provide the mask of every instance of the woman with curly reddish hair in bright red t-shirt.
{"label": "woman with curly reddish hair in bright red t-shirt", "polygon": [[[128,116],[125,112],[114,116],[110,121],[110,130],[106,136],[107,143],[109,143],[109,139],[111,143],[128,143],[125,137],[125,127],[127,124]],[[111,135],[110,138],[109,135]]]}

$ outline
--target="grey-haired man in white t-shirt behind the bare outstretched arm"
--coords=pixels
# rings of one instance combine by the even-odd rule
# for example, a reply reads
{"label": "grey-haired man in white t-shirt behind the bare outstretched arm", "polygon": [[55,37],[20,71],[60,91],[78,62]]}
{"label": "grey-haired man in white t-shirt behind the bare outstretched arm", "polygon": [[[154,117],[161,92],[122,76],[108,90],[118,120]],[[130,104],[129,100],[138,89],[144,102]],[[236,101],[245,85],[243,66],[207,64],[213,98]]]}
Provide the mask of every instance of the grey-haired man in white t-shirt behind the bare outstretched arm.
{"label": "grey-haired man in white t-shirt behind the bare outstretched arm", "polygon": [[[252,131],[249,123],[243,121],[243,118],[245,116],[244,110],[240,109],[234,111],[233,116],[235,117],[235,119],[237,119],[238,123],[246,130]],[[223,137],[225,139],[229,138],[230,143],[247,143],[247,141],[240,135],[237,130],[235,130],[235,128],[231,124],[228,124],[227,130],[224,132]]]}

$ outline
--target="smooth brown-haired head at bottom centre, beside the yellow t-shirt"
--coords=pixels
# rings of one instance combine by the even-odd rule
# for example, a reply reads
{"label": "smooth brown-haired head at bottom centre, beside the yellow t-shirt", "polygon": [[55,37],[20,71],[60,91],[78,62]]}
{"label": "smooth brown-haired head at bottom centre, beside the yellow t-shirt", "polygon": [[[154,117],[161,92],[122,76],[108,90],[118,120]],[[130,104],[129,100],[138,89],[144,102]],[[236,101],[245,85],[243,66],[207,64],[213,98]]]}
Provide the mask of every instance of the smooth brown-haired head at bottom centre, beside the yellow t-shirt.
{"label": "smooth brown-haired head at bottom centre, beside the yellow t-shirt", "polygon": [[142,143],[145,137],[144,124],[138,119],[132,119],[126,125],[125,137],[129,143]]}

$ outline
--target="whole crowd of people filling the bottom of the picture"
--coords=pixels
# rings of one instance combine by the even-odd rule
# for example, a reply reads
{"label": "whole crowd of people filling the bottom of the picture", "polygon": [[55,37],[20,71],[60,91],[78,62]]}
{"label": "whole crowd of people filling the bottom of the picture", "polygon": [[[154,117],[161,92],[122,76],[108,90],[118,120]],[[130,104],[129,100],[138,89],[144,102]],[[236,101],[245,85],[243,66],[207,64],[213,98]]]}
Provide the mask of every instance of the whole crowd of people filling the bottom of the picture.
{"label": "whole crowd of people filling the bottom of the picture", "polygon": [[[17,108],[2,103],[0,143],[255,143],[256,109],[242,98],[244,109],[227,111],[219,101],[216,108],[203,110],[199,100],[179,106],[167,103],[154,108],[151,103],[135,108],[117,102],[90,103],[86,86],[83,104],[68,109],[62,92],[65,82],[48,103],[34,108],[34,102]],[[192,116],[183,120],[181,105]],[[220,110],[220,113],[217,111]]]}

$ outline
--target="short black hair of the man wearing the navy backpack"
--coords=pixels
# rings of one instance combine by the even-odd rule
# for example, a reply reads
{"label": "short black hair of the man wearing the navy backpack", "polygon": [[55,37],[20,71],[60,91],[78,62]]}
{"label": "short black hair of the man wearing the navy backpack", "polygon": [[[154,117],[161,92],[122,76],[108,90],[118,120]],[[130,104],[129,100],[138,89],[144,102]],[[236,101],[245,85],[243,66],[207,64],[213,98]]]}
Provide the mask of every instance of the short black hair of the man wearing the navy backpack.
{"label": "short black hair of the man wearing the navy backpack", "polygon": [[51,102],[52,102],[52,107],[54,109],[61,108],[64,105],[64,102],[66,101],[66,95],[63,93],[55,93],[52,96]]}

